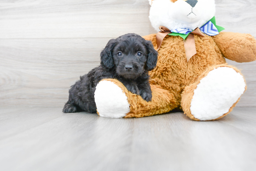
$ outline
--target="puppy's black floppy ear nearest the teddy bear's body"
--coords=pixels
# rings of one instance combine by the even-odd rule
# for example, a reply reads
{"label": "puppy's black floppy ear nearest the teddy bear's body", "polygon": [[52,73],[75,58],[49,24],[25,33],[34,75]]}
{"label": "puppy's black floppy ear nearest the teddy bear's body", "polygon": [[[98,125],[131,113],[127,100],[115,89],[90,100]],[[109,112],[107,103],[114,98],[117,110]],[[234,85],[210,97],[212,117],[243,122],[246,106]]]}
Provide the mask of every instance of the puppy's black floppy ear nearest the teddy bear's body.
{"label": "puppy's black floppy ear nearest the teddy bear's body", "polygon": [[148,50],[146,69],[148,71],[151,71],[156,67],[158,52],[154,49],[154,46],[151,43],[151,41],[146,40],[146,44],[147,44],[147,50]]}

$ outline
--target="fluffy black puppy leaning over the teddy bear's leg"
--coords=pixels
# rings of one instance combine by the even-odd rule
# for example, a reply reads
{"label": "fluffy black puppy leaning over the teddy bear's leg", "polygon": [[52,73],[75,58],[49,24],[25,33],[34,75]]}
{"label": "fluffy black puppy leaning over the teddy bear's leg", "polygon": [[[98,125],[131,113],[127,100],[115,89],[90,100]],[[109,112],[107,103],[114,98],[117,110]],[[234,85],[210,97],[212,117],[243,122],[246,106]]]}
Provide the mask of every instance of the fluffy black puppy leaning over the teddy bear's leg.
{"label": "fluffy black puppy leaning over the teddy bear's leg", "polygon": [[148,71],[156,66],[157,56],[152,43],[137,34],[129,33],[109,40],[100,54],[101,65],[71,86],[63,112],[96,113],[94,92],[98,82],[105,78],[117,79],[127,90],[151,101]]}

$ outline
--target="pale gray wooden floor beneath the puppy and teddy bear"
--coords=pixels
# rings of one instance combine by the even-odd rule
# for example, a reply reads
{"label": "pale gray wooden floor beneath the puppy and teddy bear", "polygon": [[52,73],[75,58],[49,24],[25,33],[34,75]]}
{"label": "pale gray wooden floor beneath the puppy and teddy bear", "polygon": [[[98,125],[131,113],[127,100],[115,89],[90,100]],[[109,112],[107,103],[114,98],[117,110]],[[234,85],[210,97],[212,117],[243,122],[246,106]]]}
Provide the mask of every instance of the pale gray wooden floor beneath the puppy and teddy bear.
{"label": "pale gray wooden floor beneath the puppy and teddy bear", "polygon": [[254,170],[256,108],[218,121],[0,107],[0,170]]}

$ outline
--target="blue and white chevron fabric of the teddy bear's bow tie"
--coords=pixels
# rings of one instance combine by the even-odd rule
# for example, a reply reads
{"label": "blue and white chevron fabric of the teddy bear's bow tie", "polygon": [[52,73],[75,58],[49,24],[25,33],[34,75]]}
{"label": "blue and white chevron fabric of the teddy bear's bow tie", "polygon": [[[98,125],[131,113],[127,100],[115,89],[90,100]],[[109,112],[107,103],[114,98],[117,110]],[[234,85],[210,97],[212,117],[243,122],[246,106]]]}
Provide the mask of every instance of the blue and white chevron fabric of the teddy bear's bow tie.
{"label": "blue and white chevron fabric of the teddy bear's bow tie", "polygon": [[[218,29],[211,21],[208,21],[205,25],[203,25],[200,28],[200,30],[201,30],[201,32],[208,34],[209,36],[215,36],[215,35],[219,34]],[[188,28],[178,28],[175,30],[171,30],[172,33],[180,33],[180,34],[188,34],[188,33],[191,33],[192,31],[193,30],[188,29]]]}

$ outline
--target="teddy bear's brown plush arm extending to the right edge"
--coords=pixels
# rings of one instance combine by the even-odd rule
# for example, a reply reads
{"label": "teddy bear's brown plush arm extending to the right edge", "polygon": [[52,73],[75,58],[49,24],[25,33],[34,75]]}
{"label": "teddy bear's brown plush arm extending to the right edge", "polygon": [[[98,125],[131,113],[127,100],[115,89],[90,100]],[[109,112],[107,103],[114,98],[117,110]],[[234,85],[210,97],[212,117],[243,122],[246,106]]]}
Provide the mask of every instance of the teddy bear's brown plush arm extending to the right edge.
{"label": "teddy bear's brown plush arm extending to the right edge", "polygon": [[252,62],[256,60],[256,40],[251,34],[221,32],[213,36],[220,51],[229,60]]}

